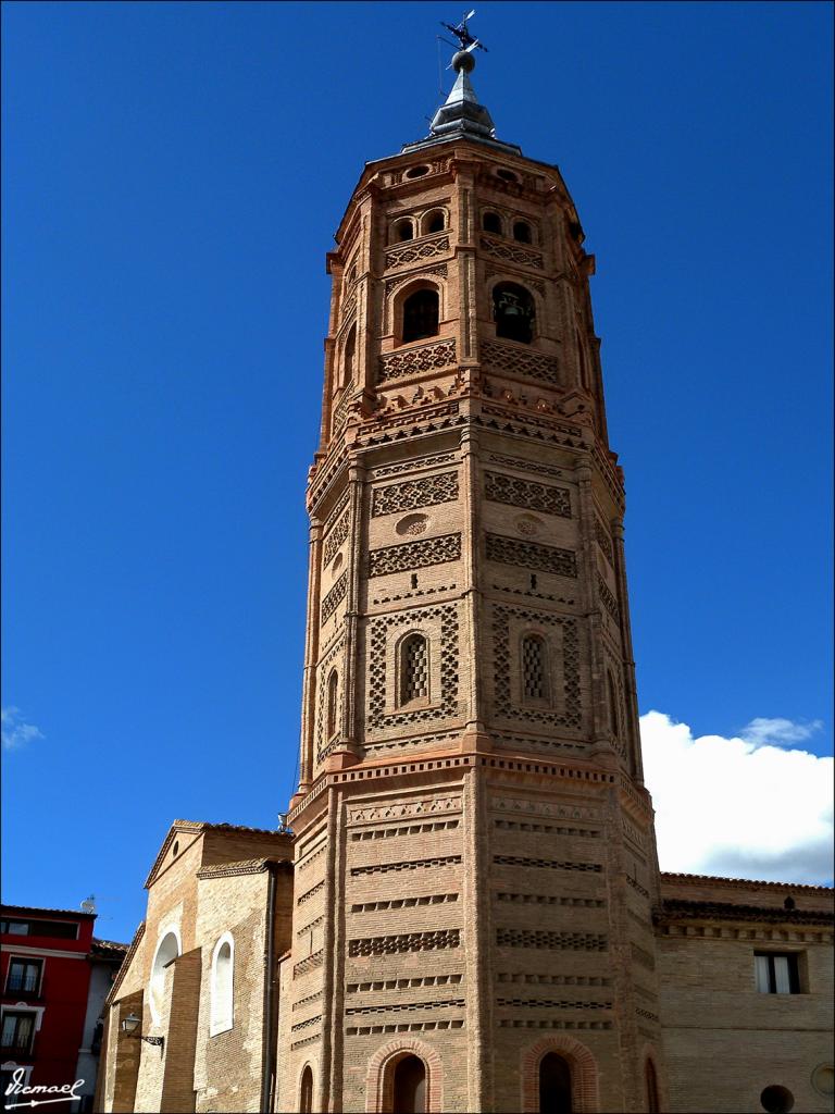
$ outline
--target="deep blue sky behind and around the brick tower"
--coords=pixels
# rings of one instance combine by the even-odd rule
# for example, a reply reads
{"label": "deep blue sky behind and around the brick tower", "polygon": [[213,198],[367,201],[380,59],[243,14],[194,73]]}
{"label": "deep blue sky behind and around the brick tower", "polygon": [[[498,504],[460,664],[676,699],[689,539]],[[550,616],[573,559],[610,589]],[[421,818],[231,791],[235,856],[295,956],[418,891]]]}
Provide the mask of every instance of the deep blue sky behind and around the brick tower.
{"label": "deep blue sky behind and around the brick tower", "polygon": [[[95,892],[128,939],[175,817],[273,827],[293,791],[324,256],[363,163],[425,134],[459,14],[3,4],[7,900]],[[473,29],[499,136],[560,166],[597,255],[652,745],[741,741],[803,809],[832,753],[832,8]],[[775,877],[827,877],[798,839]]]}

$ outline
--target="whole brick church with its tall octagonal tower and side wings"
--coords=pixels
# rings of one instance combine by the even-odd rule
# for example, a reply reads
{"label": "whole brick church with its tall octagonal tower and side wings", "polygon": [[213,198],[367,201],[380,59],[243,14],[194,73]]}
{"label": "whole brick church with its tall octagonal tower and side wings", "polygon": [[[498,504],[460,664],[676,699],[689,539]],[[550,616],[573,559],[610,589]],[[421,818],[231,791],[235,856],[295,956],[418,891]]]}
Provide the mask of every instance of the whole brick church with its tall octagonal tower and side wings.
{"label": "whole brick church with its tall octagonal tower and side wings", "polygon": [[171,825],[96,1108],[831,1111],[832,891],[659,872],[595,258],[456,33],[327,255],[286,824]]}

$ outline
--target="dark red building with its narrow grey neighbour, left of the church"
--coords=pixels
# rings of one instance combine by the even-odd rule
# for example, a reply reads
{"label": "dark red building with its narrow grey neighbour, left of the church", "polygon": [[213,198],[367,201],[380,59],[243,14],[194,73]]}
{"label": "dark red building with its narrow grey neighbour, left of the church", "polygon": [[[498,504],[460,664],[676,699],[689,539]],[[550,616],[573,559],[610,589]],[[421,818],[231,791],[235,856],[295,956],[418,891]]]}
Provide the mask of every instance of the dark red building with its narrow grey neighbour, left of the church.
{"label": "dark red building with its narrow grey neighbour, left of the church", "polygon": [[[0,1073],[2,1105],[12,1081],[27,1087],[84,1083],[77,1103],[91,1107],[98,1064],[98,1017],[125,947],[96,940],[95,912],[3,906],[0,920]],[[79,1074],[80,1073],[80,1074]]]}

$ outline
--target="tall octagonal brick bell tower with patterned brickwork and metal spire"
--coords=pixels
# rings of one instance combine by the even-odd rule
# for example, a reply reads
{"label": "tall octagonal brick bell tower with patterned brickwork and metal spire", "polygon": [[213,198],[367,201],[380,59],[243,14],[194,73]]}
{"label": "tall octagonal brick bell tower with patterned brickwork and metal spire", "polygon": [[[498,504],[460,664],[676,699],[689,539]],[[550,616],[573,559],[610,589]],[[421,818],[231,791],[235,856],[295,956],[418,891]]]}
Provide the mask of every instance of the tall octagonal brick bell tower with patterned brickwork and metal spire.
{"label": "tall octagonal brick bell tower with patterned brickwork and metal spire", "polygon": [[366,165],[327,257],[278,1110],[664,1086],[595,261],[473,65]]}

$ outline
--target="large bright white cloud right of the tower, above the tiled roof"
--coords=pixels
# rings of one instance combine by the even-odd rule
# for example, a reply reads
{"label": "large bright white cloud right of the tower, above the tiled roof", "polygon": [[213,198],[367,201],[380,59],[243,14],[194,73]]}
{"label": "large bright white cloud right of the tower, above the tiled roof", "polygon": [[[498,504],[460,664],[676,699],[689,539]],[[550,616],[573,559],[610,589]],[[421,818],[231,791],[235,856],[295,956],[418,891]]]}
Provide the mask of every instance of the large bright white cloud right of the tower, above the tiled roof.
{"label": "large bright white cloud right of the tower, above the tiled roof", "polygon": [[786,749],[819,722],[756,719],[731,739],[662,712],[640,724],[661,870],[831,885],[834,760]]}

